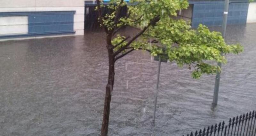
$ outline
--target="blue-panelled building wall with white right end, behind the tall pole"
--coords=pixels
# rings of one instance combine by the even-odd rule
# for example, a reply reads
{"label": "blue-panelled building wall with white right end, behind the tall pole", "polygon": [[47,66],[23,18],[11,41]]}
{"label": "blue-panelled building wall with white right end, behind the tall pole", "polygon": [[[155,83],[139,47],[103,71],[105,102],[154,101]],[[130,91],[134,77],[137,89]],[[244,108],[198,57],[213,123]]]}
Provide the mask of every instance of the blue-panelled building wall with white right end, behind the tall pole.
{"label": "blue-panelled building wall with white right end, behind the tall pole", "polygon": [[[189,0],[189,8],[180,12],[181,17],[190,20],[191,26],[222,25],[224,0]],[[246,24],[256,22],[256,3],[248,0],[230,0],[227,24]]]}

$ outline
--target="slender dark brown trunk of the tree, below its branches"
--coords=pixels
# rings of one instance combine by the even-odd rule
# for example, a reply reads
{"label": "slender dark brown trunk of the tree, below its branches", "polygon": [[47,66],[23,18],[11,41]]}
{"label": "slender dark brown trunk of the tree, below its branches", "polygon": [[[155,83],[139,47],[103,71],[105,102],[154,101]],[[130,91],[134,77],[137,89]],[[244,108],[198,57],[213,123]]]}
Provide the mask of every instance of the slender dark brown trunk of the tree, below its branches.
{"label": "slender dark brown trunk of the tree, below its branches", "polygon": [[108,49],[108,84],[106,86],[105,102],[104,102],[104,111],[103,111],[103,120],[101,127],[101,136],[108,135],[108,123],[109,123],[109,113],[110,113],[110,102],[111,95],[114,85],[114,76],[115,76],[115,57],[113,55],[113,49]]}

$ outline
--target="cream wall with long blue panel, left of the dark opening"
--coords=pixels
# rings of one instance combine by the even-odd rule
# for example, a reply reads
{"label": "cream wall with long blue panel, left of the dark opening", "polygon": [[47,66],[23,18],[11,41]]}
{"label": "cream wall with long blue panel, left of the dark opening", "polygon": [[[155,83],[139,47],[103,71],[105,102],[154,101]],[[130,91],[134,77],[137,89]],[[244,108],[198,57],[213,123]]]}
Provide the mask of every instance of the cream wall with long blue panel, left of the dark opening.
{"label": "cream wall with long blue panel, left of the dark opening", "polygon": [[0,39],[84,35],[84,0],[1,0]]}

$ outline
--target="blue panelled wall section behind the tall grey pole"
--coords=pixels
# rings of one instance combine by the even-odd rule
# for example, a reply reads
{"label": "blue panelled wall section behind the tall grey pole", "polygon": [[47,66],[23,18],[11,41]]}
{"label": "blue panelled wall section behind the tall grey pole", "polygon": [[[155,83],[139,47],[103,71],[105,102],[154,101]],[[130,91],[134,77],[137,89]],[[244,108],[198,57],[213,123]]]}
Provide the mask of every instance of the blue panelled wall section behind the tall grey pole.
{"label": "blue panelled wall section behind the tall grey pole", "polygon": [[[193,4],[192,27],[200,23],[206,26],[222,25],[224,1],[190,1]],[[248,12],[247,1],[230,1],[227,24],[245,24]]]}

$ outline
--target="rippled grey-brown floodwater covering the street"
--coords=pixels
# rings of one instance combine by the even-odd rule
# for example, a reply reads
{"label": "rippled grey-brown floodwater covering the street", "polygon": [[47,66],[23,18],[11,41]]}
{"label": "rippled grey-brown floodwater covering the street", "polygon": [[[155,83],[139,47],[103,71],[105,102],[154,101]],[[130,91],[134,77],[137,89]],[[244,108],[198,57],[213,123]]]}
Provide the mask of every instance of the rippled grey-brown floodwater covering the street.
{"label": "rippled grey-brown floodwater covering the street", "polygon": [[[0,42],[0,135],[99,135],[104,39],[97,32]],[[256,24],[228,26],[227,42],[241,43],[244,52],[226,55],[214,109],[214,75],[192,79],[187,68],[162,63],[155,125],[157,62],[141,51],[118,60],[109,136],[181,136],[256,109]]]}

